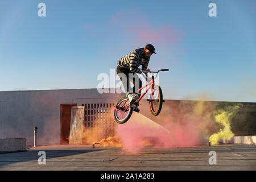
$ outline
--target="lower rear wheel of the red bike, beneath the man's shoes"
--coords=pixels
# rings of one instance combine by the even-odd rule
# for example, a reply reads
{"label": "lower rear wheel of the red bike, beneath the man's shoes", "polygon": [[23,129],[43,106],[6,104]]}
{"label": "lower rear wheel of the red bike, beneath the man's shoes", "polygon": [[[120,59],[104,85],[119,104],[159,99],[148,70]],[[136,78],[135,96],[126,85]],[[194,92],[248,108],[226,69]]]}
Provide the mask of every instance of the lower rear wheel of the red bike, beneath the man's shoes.
{"label": "lower rear wheel of the red bike, beneath the man's shoes", "polygon": [[123,97],[117,102],[116,106],[118,109],[115,108],[114,110],[115,122],[123,124],[130,119],[131,114],[133,113],[133,108],[128,105],[130,105],[128,97]]}

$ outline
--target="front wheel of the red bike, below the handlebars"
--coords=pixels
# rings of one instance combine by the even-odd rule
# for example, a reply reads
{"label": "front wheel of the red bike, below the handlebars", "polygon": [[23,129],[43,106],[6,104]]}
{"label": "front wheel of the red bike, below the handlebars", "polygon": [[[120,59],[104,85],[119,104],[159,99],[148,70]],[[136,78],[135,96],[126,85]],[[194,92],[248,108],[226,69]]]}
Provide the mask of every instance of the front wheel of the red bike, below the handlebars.
{"label": "front wheel of the red bike, below the handlebars", "polygon": [[160,86],[155,85],[150,94],[150,111],[156,116],[160,113],[163,105],[163,93]]}

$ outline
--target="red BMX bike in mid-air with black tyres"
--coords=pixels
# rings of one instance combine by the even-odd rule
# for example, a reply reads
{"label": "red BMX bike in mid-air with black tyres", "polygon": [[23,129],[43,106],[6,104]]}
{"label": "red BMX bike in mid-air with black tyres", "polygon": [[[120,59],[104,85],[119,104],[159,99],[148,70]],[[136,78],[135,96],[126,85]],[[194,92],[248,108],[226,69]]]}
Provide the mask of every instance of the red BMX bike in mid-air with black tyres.
{"label": "red BMX bike in mid-air with black tyres", "polygon": [[163,93],[162,89],[159,85],[155,85],[155,78],[154,76],[148,77],[145,73],[156,73],[156,77],[158,76],[158,73],[161,71],[169,71],[169,69],[159,69],[157,72],[153,71],[143,71],[141,68],[139,68],[142,72],[142,75],[148,79],[151,79],[150,82],[148,82],[146,85],[142,86],[142,88],[138,89],[136,93],[138,93],[140,90],[148,86],[146,89],[146,92],[141,94],[141,96],[138,98],[137,101],[134,102],[134,104],[129,103],[128,97],[122,97],[118,102],[117,105],[114,107],[114,118],[115,122],[119,124],[123,124],[126,121],[128,121],[131,117],[131,114],[133,114],[133,109],[139,104],[139,101],[142,100],[144,95],[150,90],[150,99],[147,99],[147,101],[150,103],[150,111],[151,114],[156,116],[160,113],[163,105]]}

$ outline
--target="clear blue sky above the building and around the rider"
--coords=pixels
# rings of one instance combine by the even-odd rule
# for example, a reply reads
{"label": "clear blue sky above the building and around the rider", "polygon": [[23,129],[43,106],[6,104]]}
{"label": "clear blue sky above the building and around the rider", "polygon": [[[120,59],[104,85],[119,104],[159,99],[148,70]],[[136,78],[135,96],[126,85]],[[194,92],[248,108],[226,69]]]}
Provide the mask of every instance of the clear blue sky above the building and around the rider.
{"label": "clear blue sky above the building and around the rider", "polygon": [[[46,17],[38,4],[46,3]],[[208,15],[209,3],[217,17]],[[0,91],[97,88],[151,43],[166,99],[256,102],[254,0],[1,1]]]}

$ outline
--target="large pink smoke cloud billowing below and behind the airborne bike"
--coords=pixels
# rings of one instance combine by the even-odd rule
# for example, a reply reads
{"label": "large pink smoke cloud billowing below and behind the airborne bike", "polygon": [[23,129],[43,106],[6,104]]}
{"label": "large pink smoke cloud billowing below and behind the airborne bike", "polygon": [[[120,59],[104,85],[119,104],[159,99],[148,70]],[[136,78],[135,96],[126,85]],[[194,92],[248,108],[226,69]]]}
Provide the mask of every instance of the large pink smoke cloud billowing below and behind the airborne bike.
{"label": "large pink smoke cloud billowing below and behind the airborne bike", "polygon": [[[160,118],[161,126],[134,113],[126,123],[116,125],[117,137],[123,144],[123,150],[136,154],[145,146],[167,147],[192,147],[206,144],[208,129],[212,119],[210,113],[213,106],[199,102],[195,106],[166,107]],[[171,113],[171,114],[170,114]],[[163,126],[163,127],[162,127]]]}

